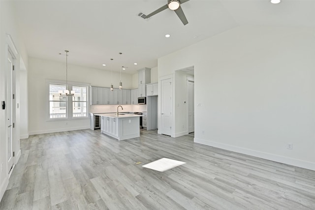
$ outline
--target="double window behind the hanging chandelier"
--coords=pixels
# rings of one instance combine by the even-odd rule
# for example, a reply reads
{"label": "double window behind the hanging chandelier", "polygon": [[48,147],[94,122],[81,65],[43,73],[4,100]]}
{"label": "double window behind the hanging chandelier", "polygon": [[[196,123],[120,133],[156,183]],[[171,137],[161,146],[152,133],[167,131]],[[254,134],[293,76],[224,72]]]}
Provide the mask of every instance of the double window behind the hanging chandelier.
{"label": "double window behind the hanging chandelier", "polygon": [[60,95],[65,84],[49,83],[49,119],[78,119],[88,117],[88,86],[68,84],[68,90],[74,90],[73,96]]}

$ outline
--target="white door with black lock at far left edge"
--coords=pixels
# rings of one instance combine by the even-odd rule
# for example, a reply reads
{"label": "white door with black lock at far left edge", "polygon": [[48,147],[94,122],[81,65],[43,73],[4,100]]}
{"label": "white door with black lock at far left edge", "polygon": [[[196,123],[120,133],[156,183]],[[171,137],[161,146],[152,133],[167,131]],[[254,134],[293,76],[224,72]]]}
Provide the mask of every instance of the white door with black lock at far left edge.
{"label": "white door with black lock at far left edge", "polygon": [[7,154],[8,154],[8,172],[10,173],[13,167],[13,148],[12,148],[12,71],[13,71],[13,58],[8,52],[8,69],[6,74],[6,139],[7,139]]}

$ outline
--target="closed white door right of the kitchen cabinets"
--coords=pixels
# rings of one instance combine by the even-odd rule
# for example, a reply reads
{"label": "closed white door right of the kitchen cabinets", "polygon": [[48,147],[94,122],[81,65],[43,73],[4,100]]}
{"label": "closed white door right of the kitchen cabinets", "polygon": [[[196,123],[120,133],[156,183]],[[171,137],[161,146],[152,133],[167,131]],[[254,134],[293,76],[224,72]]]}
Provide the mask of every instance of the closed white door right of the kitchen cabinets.
{"label": "closed white door right of the kitchen cabinets", "polygon": [[171,136],[173,124],[172,79],[161,80],[161,133]]}

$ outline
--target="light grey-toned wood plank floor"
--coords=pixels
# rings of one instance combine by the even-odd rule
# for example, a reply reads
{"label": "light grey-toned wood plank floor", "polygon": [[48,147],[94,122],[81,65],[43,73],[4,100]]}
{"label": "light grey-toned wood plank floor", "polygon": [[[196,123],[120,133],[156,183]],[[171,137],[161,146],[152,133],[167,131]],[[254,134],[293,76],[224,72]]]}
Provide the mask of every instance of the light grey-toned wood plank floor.
{"label": "light grey-toned wood plank floor", "polygon": [[[143,130],[117,141],[81,130],[33,135],[21,149],[0,210],[315,209],[315,171],[194,144],[193,135]],[[186,164],[141,167],[162,157]]]}

